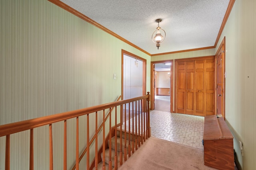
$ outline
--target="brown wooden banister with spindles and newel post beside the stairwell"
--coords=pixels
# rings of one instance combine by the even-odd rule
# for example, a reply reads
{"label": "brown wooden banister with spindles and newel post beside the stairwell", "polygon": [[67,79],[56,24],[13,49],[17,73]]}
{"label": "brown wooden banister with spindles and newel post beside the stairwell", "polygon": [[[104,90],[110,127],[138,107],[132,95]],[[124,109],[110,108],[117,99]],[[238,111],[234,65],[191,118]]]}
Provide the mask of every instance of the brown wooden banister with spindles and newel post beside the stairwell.
{"label": "brown wooden banister with spindles and newel post beside the stairwell", "polygon": [[[53,145],[52,145],[52,124],[56,123],[56,122],[60,122],[63,121],[64,122],[64,157],[63,157],[63,169],[66,170],[67,169],[67,120],[68,119],[72,119],[72,118],[76,118],[76,165],[75,165],[75,169],[79,170],[79,162],[82,159],[82,155],[79,156],[79,117],[82,115],[87,115],[87,147],[85,149],[85,151],[83,152],[83,154],[87,154],[87,160],[86,160],[86,169],[89,170],[90,168],[90,145],[92,144],[92,142],[94,141],[94,139],[89,139],[89,115],[94,113],[95,115],[98,115],[99,112],[103,112],[103,116],[105,117],[105,110],[106,109],[110,109],[109,112],[109,124],[110,124],[110,129],[109,131],[111,132],[111,127],[112,127],[112,115],[111,112],[114,110],[114,114],[115,114],[115,137],[117,136],[116,132],[117,132],[117,127],[118,125],[120,125],[120,123],[118,124],[118,120],[117,120],[117,107],[120,107],[120,113],[123,112],[123,105],[129,104],[130,107],[130,103],[135,102],[135,134],[140,134],[138,138],[136,138],[135,144],[135,149],[138,149],[137,145],[140,146],[140,143],[143,144],[143,140],[145,141],[145,139],[147,139],[148,137],[150,137],[151,135],[151,129],[150,129],[150,115],[149,115],[149,102],[150,102],[150,95],[149,92],[147,95],[145,96],[140,96],[140,97],[136,97],[136,98],[132,98],[132,99],[128,99],[128,100],[121,100],[121,101],[117,101],[117,102],[112,102],[112,103],[108,103],[108,104],[102,104],[102,105],[98,105],[98,106],[93,106],[93,107],[88,107],[88,108],[84,108],[84,109],[78,109],[78,110],[74,110],[74,111],[68,111],[68,112],[64,112],[64,113],[59,113],[59,114],[55,114],[55,115],[49,115],[49,116],[45,116],[45,117],[40,117],[40,118],[35,118],[35,119],[30,119],[30,120],[25,120],[25,121],[20,121],[20,122],[16,122],[16,123],[9,123],[6,125],[0,125],[0,137],[6,136],[6,150],[5,150],[5,170],[10,170],[10,135],[14,134],[14,133],[18,133],[18,132],[22,132],[22,131],[26,131],[26,130],[30,130],[30,156],[29,156],[29,168],[30,170],[34,169],[34,129],[37,127],[41,127],[41,126],[45,126],[48,125],[49,126],[49,169],[53,170]],[[140,102],[140,104],[139,104]],[[137,115],[137,103],[138,103],[138,114]],[[129,109],[130,110],[130,109]],[[132,109],[133,110],[133,109]],[[126,111],[124,111],[124,114],[126,114]],[[122,115],[122,114],[121,114]],[[130,115],[129,115],[130,116]],[[138,116],[138,122],[137,122],[137,116]],[[132,134],[134,134],[134,117],[132,117]],[[130,118],[130,117],[129,117]],[[144,120],[143,120],[144,118]],[[103,123],[102,125],[100,125],[100,128],[103,127],[103,141],[105,141],[105,121],[106,119],[108,119],[107,117],[105,119],[103,119]],[[126,119],[125,119],[126,120]],[[141,121],[141,122],[140,122]],[[120,122],[122,123],[122,116],[120,116]],[[96,127],[98,127],[98,122],[97,122],[97,116],[96,116]],[[126,121],[124,121],[125,125],[126,125]],[[141,124],[140,124],[141,123]],[[138,131],[137,131],[137,124],[138,124]],[[130,119],[129,119],[129,125],[130,125]],[[141,128],[140,128],[141,126]],[[124,127],[126,128],[126,127]],[[99,134],[99,130],[98,128],[96,128],[96,132],[93,138],[95,138],[95,143],[98,143],[98,134]],[[109,133],[111,134],[111,133]],[[125,133],[126,136],[126,133]],[[129,136],[130,136],[130,128],[129,128]],[[110,135],[111,138],[111,135]],[[132,137],[134,138],[134,137]],[[122,133],[121,133],[121,138],[120,138],[120,165],[122,165]],[[103,142],[103,145],[105,142]],[[125,141],[126,143],[126,141]],[[130,142],[129,142],[130,143]],[[89,147],[88,147],[89,146]],[[115,141],[115,149],[117,150],[117,140]],[[128,145],[129,146],[129,145]],[[133,150],[133,149],[132,149]],[[98,146],[95,145],[95,151],[98,151]],[[103,147],[103,152],[105,151],[105,146]],[[128,151],[129,152],[129,151]],[[97,155],[97,152],[95,153],[95,155]],[[130,155],[130,154],[128,154]],[[110,154],[110,158],[111,158],[111,154]],[[96,156],[97,157],[97,156]],[[117,159],[117,152],[115,152],[115,156],[114,156],[114,168],[117,169],[118,168],[118,159]],[[110,159],[110,164],[109,167],[111,168],[111,160]],[[97,165],[98,165],[98,160],[95,160],[95,166],[97,169]],[[105,162],[103,160],[103,169],[105,169]]]}

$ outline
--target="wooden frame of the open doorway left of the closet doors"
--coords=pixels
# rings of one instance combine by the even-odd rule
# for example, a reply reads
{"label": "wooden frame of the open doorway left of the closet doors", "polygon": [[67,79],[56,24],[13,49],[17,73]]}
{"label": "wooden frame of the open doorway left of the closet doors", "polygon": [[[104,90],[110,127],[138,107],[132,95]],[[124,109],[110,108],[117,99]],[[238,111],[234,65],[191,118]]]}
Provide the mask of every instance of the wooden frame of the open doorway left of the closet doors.
{"label": "wooden frame of the open doorway left of the closet doors", "polygon": [[171,63],[170,70],[170,113],[173,113],[173,60],[151,61],[150,65],[150,110],[154,110],[155,92],[154,92],[154,64]]}

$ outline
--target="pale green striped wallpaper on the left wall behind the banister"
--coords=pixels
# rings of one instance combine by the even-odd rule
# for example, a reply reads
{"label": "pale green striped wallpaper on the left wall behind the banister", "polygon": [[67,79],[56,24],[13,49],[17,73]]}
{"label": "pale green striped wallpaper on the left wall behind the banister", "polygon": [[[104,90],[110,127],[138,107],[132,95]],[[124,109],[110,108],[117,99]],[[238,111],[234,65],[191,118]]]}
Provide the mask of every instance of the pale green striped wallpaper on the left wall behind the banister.
{"label": "pale green striped wallpaper on the left wall behind the banister", "polygon": [[[114,102],[121,95],[122,49],[150,63],[149,55],[47,0],[1,0],[0,26],[0,125]],[[150,91],[150,71],[147,77]],[[79,125],[85,131],[84,121],[81,117]],[[67,122],[68,169],[75,159],[75,122]],[[91,115],[90,135],[94,122]],[[36,170],[48,169],[48,131],[34,130]],[[80,151],[86,146],[84,131],[80,130]],[[63,139],[63,122],[53,125],[53,138],[54,169],[62,169],[63,143],[56,139]],[[11,135],[11,169],[28,169],[28,142],[27,131]],[[0,150],[4,169],[5,137],[0,137]]]}

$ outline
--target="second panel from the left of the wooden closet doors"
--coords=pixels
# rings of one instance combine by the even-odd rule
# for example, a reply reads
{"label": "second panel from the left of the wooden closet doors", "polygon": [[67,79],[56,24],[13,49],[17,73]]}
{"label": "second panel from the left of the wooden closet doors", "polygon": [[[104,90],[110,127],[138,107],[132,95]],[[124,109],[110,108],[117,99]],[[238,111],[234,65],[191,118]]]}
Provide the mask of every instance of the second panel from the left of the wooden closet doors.
{"label": "second panel from the left of the wooden closet doors", "polygon": [[186,61],[185,113],[194,115],[194,72],[195,61]]}

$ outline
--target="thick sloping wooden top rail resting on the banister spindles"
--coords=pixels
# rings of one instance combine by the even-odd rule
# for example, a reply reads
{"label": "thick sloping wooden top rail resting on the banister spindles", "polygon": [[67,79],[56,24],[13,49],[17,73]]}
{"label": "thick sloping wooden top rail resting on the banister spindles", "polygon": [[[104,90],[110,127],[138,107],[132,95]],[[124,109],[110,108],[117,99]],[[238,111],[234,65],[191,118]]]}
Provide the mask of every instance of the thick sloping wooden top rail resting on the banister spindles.
{"label": "thick sloping wooden top rail resting on the banister spindles", "polygon": [[122,104],[134,102],[136,100],[141,100],[141,99],[146,99],[148,98],[148,95],[145,96],[140,96],[132,99],[127,99],[127,100],[120,100],[117,102],[112,102],[108,104],[102,104],[98,106],[92,106],[92,107],[87,107],[84,109],[78,109],[74,111],[67,111],[64,113],[58,113],[55,115],[49,115],[49,116],[44,116],[44,117],[39,117],[35,119],[29,119],[25,121],[19,121],[15,123],[9,123],[6,125],[0,125],[0,137],[6,136],[6,135],[11,135],[13,133],[18,133],[21,131],[26,131],[29,129],[34,129],[36,127],[44,126],[44,125],[49,125],[51,123],[56,123],[58,121],[64,121],[67,119],[71,119],[74,117],[79,117],[82,115],[86,115],[89,113],[93,113],[96,111],[100,111],[103,109],[109,109],[111,107],[115,106],[120,106]]}

